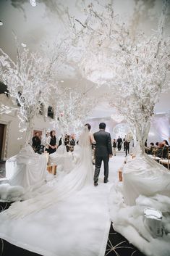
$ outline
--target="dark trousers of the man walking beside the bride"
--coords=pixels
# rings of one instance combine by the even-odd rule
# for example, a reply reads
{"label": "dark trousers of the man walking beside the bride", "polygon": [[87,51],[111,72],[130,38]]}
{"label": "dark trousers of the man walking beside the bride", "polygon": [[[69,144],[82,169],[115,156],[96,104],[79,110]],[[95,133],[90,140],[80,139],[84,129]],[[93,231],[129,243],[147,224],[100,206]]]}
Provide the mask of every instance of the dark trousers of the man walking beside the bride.
{"label": "dark trousers of the man walking beside the bride", "polygon": [[101,170],[101,162],[104,163],[104,182],[108,181],[109,176],[109,156],[107,157],[98,157],[95,156],[95,175],[94,175],[94,183],[98,183],[98,176]]}

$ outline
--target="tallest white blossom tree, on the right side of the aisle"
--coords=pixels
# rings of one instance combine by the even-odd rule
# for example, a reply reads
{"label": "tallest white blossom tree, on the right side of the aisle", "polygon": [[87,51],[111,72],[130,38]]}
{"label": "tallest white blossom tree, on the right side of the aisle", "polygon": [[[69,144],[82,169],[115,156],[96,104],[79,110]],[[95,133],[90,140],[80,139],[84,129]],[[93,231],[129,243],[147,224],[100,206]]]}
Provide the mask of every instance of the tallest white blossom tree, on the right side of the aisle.
{"label": "tallest white blossom tree, on the right side of the aisle", "polygon": [[156,34],[148,38],[140,33],[135,41],[124,38],[123,51],[118,51],[114,58],[116,75],[110,82],[116,99],[111,106],[127,119],[142,154],[155,104],[161,91],[170,86],[170,40],[163,38],[165,15],[166,1]]}

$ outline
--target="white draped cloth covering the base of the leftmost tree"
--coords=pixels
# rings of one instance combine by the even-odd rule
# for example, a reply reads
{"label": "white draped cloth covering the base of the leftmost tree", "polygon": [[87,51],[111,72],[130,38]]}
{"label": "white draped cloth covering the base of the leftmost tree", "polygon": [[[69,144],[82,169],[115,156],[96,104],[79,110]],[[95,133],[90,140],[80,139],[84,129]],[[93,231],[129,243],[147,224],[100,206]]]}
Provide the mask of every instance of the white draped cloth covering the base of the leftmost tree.
{"label": "white draped cloth covering the base of the leftmost tree", "polygon": [[35,154],[31,146],[25,146],[6,161],[6,177],[12,186],[33,186],[46,178],[46,156]]}

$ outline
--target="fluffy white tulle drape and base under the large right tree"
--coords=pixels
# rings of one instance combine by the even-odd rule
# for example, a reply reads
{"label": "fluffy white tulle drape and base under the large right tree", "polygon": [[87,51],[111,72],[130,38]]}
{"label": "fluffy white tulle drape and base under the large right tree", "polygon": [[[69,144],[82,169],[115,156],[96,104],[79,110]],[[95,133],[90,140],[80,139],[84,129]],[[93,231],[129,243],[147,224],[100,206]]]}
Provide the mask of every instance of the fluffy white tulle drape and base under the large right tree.
{"label": "fluffy white tulle drape and base under the large right tree", "polygon": [[[109,194],[114,230],[145,255],[169,256],[169,170],[146,154],[138,154],[135,159],[127,157],[126,162],[122,167],[123,183],[114,183]],[[163,236],[152,236],[150,228],[145,225],[145,208],[162,212]]]}

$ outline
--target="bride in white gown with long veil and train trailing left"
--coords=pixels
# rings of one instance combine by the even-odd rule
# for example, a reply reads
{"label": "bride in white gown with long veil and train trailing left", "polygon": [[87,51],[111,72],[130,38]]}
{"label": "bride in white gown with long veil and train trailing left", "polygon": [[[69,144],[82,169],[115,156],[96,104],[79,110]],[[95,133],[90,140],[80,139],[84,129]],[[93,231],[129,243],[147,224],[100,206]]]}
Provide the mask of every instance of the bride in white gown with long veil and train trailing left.
{"label": "bride in white gown with long veil and train trailing left", "polygon": [[93,185],[93,164],[91,144],[95,144],[93,134],[90,133],[90,124],[86,124],[80,135],[79,147],[80,157],[75,168],[64,176],[61,181],[56,181],[55,186],[48,187],[34,198],[23,202],[14,202],[9,209],[1,212],[10,218],[24,218],[32,212],[38,212],[53,205],[55,202],[67,199],[72,193],[82,189],[84,186]]}

